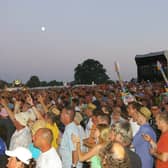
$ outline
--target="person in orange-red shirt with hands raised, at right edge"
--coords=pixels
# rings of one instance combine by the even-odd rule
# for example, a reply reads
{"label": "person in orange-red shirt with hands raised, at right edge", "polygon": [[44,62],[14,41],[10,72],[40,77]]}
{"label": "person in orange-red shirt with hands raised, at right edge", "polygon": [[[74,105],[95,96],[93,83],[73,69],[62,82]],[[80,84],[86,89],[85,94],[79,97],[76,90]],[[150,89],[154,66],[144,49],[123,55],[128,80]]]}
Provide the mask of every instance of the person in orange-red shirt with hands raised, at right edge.
{"label": "person in orange-red shirt with hands raised, at right edge", "polygon": [[157,144],[149,134],[144,134],[144,139],[151,145],[150,153],[156,158],[156,168],[168,167],[168,113],[160,112],[156,116],[156,125],[161,130]]}

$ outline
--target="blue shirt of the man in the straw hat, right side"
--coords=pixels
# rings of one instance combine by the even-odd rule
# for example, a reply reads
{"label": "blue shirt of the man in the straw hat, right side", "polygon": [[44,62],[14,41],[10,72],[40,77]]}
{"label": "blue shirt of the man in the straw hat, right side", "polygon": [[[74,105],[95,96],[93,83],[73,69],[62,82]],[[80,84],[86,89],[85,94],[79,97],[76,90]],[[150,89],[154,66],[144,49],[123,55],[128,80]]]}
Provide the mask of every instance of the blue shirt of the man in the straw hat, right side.
{"label": "blue shirt of the man in the straw hat, right side", "polygon": [[150,137],[156,141],[156,134],[153,131],[152,127],[148,123],[141,125],[139,131],[135,134],[133,139],[133,145],[135,152],[139,155],[142,162],[142,168],[153,168],[153,157],[149,153],[151,148],[150,144],[145,141],[142,137],[142,134],[148,134]]}

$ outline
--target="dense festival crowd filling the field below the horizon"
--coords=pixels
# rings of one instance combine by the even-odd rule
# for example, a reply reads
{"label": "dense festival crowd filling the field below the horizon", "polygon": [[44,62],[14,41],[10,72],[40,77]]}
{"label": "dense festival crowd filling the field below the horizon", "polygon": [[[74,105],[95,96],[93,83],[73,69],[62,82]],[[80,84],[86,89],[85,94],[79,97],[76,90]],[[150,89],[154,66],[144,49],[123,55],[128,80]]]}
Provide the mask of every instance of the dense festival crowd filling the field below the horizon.
{"label": "dense festival crowd filling the field below the horizon", "polygon": [[0,91],[0,168],[168,168],[164,83]]}

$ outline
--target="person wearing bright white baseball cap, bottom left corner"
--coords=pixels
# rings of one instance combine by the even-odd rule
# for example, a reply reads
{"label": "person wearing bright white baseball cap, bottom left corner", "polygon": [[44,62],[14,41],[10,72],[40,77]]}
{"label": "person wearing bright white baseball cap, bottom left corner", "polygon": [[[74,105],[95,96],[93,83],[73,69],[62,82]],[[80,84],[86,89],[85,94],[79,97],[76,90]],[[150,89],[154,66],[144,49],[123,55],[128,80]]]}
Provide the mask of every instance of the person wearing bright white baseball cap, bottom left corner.
{"label": "person wearing bright white baseball cap, bottom left corner", "polygon": [[17,147],[14,150],[6,150],[5,154],[9,156],[7,168],[35,168],[35,162],[27,148]]}

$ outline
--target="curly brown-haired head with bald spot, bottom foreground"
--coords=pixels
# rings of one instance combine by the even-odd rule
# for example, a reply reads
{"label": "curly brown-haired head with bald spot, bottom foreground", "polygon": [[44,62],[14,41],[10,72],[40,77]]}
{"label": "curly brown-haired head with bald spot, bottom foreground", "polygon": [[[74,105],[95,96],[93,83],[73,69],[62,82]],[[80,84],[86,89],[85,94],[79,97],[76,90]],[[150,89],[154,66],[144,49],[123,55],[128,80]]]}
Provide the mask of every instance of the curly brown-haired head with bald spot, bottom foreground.
{"label": "curly brown-haired head with bald spot, bottom foreground", "polygon": [[109,142],[99,153],[102,168],[130,168],[130,161],[124,147],[118,142]]}

